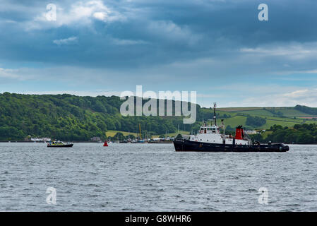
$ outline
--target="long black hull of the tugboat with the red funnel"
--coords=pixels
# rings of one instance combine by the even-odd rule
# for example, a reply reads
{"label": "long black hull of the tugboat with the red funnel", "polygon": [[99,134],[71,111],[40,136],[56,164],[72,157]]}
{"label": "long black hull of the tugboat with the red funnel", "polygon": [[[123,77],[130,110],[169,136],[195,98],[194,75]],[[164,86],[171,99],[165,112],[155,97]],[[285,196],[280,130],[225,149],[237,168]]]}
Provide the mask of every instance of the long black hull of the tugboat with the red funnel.
{"label": "long black hull of the tugboat with the red funnel", "polygon": [[282,143],[259,144],[259,145],[233,145],[220,143],[201,143],[186,139],[175,139],[174,147],[176,151],[194,152],[287,152],[289,146]]}

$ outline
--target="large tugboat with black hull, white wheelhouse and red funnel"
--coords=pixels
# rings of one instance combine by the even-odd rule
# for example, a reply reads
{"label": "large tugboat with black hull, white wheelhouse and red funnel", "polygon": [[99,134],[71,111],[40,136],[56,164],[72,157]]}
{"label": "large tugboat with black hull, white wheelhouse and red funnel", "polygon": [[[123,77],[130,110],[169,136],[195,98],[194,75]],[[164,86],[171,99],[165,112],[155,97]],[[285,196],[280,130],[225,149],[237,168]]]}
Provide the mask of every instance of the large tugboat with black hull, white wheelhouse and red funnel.
{"label": "large tugboat with black hull, white wheelhouse and red funnel", "polygon": [[[289,146],[284,143],[253,142],[248,134],[244,133],[242,126],[236,128],[236,135],[225,135],[225,124],[221,120],[221,127],[217,126],[216,104],[214,105],[214,124],[203,123],[196,135],[188,138],[176,138],[174,147],[176,151],[196,152],[287,152]],[[222,128],[223,133],[220,133]]]}

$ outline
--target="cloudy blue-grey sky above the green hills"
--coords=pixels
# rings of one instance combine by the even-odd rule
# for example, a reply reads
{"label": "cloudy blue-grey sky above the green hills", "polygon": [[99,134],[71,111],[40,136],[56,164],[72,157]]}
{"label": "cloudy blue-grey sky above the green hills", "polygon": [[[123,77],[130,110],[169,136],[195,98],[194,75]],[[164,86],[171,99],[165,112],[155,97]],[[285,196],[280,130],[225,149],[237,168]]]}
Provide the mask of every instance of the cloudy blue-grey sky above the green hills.
{"label": "cloudy blue-grey sky above the green hills", "polygon": [[196,90],[205,107],[317,107],[317,1],[0,0],[0,81],[0,93],[143,85]]}

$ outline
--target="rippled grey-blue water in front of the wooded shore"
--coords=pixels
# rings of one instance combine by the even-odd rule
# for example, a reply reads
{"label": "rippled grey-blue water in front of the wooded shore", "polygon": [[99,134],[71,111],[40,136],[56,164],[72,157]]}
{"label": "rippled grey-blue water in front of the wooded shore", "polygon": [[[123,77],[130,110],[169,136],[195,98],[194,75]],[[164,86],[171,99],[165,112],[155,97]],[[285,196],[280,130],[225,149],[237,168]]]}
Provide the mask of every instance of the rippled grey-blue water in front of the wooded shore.
{"label": "rippled grey-blue water in front of the wooded shore", "polygon": [[1,211],[317,211],[317,145],[176,153],[172,144],[0,143],[0,169]]}

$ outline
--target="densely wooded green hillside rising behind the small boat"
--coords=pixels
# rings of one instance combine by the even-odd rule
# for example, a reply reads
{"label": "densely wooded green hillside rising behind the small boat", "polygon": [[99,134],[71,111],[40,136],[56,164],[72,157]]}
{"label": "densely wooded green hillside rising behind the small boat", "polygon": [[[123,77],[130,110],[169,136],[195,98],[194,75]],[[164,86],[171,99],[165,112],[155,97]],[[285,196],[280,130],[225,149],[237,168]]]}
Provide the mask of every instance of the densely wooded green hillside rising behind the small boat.
{"label": "densely wooded green hillside rising behind the small boat", "polygon": [[123,117],[120,106],[124,101],[116,96],[3,93],[0,94],[0,141],[20,141],[29,135],[88,141],[94,136],[105,138],[108,130],[136,132],[138,124],[143,131],[156,134],[173,133],[178,127],[186,131],[197,130],[200,125],[199,105],[196,123],[183,124],[182,117]]}

